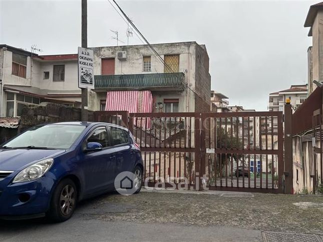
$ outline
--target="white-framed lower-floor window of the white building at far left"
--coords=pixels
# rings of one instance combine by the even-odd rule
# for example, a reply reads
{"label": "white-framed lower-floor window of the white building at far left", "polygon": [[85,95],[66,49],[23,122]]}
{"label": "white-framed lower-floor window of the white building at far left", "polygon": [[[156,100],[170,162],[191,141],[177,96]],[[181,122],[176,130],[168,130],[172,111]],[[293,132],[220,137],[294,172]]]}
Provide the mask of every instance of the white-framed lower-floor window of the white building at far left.
{"label": "white-framed lower-floor window of the white building at far left", "polygon": [[40,98],[7,92],[7,117],[20,117],[25,104],[40,104]]}

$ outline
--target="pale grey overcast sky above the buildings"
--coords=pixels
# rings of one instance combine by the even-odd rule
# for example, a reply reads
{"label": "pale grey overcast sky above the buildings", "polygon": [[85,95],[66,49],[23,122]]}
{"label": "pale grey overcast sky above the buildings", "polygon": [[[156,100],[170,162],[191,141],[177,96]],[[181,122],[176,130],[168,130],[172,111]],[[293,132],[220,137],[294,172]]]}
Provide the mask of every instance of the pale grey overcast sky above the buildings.
{"label": "pale grey overcast sky above the buildings", "polygon": [[[117,1],[150,43],[196,41],[210,57],[211,88],[230,105],[267,110],[268,94],[307,83],[303,24],[317,2]],[[41,54],[77,53],[80,1],[0,0],[0,43]],[[88,0],[88,46],[112,46],[127,24],[108,0]],[[134,35],[129,44],[142,44]]]}

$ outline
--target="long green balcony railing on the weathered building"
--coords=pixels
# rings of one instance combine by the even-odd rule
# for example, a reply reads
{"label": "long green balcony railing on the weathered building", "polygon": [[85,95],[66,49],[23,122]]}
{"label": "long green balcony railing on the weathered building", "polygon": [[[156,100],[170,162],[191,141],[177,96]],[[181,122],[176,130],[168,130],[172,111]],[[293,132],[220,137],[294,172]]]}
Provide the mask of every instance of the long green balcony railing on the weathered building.
{"label": "long green balcony railing on the weathered building", "polygon": [[95,91],[184,90],[184,73],[94,76]]}

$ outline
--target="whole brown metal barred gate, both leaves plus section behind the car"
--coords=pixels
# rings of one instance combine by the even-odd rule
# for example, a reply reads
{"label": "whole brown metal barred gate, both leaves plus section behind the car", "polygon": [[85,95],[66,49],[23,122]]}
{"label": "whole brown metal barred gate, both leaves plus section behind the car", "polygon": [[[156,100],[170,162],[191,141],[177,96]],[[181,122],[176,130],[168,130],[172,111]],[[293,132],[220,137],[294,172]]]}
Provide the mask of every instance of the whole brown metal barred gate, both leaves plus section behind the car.
{"label": "whole brown metal barred gate, both leaves plus section behind the car", "polygon": [[282,112],[94,116],[130,129],[148,186],[283,192]]}

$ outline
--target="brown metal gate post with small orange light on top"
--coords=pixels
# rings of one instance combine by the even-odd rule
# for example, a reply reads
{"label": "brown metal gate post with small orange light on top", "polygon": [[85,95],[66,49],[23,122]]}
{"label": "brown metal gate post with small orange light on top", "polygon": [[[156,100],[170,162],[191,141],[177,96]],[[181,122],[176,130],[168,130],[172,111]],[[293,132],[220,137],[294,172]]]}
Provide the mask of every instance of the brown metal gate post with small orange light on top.
{"label": "brown metal gate post with small orange light on top", "polygon": [[293,150],[292,150],[292,111],[290,100],[284,107],[284,193],[293,194]]}

